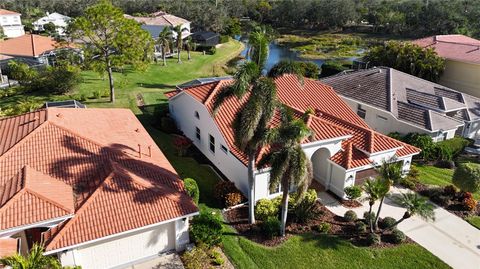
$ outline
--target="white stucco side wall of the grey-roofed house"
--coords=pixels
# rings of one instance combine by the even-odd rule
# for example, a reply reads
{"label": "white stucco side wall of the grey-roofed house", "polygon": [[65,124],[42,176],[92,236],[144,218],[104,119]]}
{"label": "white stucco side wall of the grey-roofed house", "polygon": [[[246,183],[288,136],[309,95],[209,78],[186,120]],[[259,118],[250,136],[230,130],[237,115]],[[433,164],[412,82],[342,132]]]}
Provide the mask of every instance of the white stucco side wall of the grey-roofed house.
{"label": "white stucco side wall of the grey-roofed house", "polygon": [[408,133],[428,134],[432,137],[434,142],[442,141],[444,133],[447,133],[447,139],[453,138],[455,136],[456,129],[445,130],[443,132],[430,132],[411,123],[396,119],[391,113],[380,110],[374,106],[360,103],[344,96],[340,97],[342,97],[342,99],[348,104],[350,108],[352,108],[354,112],[358,110],[358,105],[360,104],[362,108],[366,111],[365,122],[368,124],[368,126],[370,126],[370,128],[374,129],[379,133],[388,134],[391,132],[399,132],[403,135]]}

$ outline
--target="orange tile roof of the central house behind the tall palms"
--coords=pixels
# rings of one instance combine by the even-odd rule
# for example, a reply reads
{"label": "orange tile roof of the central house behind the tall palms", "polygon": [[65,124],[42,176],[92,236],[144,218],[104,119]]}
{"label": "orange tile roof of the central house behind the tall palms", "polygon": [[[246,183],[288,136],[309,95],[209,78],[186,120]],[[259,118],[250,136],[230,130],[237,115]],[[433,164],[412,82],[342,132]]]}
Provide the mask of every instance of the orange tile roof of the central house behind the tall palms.
{"label": "orange tile roof of the central house behind the tall palms", "polygon": [[[219,90],[229,83],[231,80],[222,80],[187,87],[183,91],[204,104],[213,115],[215,97]],[[330,86],[308,78],[304,78],[302,84],[294,75],[276,78],[275,84],[279,100],[297,114],[301,115],[309,109],[315,110],[315,115],[309,116],[307,120],[308,126],[314,132],[314,137],[313,140],[306,139],[304,143],[351,136],[343,142],[343,150],[331,158],[332,161],[344,168],[351,169],[370,164],[370,160],[364,152],[377,153],[401,149],[397,152],[399,157],[420,152],[415,147],[370,129]],[[166,95],[168,98],[173,98],[180,92],[171,91]],[[244,164],[246,164],[247,157],[235,146],[232,123],[246,98],[238,100],[230,97],[223,103],[214,118],[230,150]],[[275,117],[272,120],[272,122],[278,121],[279,119]],[[260,151],[262,152],[262,150]]]}

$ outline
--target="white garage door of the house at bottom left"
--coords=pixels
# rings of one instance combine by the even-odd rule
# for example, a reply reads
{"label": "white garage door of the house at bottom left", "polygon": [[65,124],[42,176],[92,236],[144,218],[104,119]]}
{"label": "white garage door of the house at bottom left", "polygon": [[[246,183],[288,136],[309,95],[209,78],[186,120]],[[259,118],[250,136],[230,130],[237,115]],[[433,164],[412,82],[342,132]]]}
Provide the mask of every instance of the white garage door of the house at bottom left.
{"label": "white garage door of the house at bottom left", "polygon": [[78,249],[82,269],[113,268],[175,248],[174,222]]}

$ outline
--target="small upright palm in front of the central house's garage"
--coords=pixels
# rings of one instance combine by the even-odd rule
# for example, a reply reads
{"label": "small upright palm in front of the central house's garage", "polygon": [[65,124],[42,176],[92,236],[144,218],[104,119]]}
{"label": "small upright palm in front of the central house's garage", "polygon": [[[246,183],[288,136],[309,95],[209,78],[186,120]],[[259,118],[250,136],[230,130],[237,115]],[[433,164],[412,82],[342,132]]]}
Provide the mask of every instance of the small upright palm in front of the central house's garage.
{"label": "small upright palm in front of the central house's garage", "polygon": [[390,192],[390,187],[393,183],[398,183],[402,179],[402,163],[397,162],[395,158],[392,158],[388,161],[383,160],[382,165],[380,165],[380,167],[378,167],[376,170],[381,179],[381,183],[379,188],[380,205],[378,206],[375,221],[373,223],[373,227],[375,229],[378,227],[380,211],[382,210],[385,197]]}

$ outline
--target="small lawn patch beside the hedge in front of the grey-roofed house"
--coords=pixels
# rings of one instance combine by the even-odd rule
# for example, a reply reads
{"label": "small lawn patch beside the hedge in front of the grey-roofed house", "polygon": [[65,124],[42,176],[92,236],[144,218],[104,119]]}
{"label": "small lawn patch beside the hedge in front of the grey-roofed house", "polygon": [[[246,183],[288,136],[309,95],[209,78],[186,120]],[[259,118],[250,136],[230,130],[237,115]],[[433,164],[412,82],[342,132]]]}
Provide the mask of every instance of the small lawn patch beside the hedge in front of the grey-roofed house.
{"label": "small lawn patch beside the hedge in front of the grey-roofed house", "polygon": [[[444,187],[452,184],[452,169],[438,168],[431,165],[416,165],[420,172],[419,180],[426,185]],[[473,193],[473,197],[480,200],[480,191]]]}

